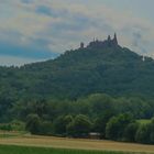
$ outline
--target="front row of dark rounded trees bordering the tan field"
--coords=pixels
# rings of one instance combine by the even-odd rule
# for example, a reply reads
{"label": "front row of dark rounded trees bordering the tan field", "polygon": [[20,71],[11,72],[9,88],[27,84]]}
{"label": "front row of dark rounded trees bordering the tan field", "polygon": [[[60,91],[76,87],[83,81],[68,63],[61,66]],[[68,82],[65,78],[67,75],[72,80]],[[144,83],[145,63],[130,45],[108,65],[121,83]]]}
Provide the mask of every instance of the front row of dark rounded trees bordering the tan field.
{"label": "front row of dark rounded trees bordering the tan field", "polygon": [[113,117],[106,113],[96,121],[84,114],[61,116],[53,123],[30,114],[25,127],[32,134],[38,135],[90,138],[90,132],[95,132],[99,134],[98,139],[154,144],[154,119],[141,124],[129,113]]}

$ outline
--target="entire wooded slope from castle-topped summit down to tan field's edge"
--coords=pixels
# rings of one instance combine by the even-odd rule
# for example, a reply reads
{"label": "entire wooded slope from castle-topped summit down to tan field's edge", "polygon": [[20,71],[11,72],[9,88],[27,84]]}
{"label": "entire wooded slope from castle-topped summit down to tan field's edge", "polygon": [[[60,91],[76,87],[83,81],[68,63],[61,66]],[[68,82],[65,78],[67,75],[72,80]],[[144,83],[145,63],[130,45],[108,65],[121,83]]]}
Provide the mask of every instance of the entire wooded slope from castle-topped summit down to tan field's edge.
{"label": "entire wooded slope from castle-topped summit down to tan field's edge", "polygon": [[95,131],[111,140],[153,143],[153,120],[146,127],[136,122],[154,117],[153,91],[153,58],[108,36],[55,59],[0,67],[0,123],[19,120],[34,134],[85,136]]}

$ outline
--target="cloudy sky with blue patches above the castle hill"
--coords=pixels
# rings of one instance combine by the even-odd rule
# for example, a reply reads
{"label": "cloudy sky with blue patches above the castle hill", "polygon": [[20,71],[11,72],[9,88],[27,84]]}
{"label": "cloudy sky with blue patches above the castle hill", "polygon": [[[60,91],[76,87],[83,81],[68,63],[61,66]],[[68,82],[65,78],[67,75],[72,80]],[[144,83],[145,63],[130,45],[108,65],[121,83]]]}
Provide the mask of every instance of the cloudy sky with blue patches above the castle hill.
{"label": "cloudy sky with blue patches above the castle hill", "polygon": [[0,65],[48,59],[94,37],[154,56],[154,0],[0,0]]}

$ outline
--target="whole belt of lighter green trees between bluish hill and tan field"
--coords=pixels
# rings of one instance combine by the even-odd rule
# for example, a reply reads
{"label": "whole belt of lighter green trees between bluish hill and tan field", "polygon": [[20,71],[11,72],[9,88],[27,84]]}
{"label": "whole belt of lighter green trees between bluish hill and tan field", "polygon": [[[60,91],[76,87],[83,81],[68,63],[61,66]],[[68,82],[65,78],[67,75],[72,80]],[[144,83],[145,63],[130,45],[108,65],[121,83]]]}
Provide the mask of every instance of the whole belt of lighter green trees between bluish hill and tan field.
{"label": "whole belt of lighter green trees between bluish hill and tan field", "polygon": [[[88,138],[96,132],[100,139],[153,143],[153,120],[144,125],[136,121],[154,117],[153,100],[142,97],[94,94],[77,100],[21,99],[13,105],[9,98],[1,100],[0,123],[20,121],[18,130],[25,124],[32,134]],[[10,124],[0,129],[12,130]]]}

